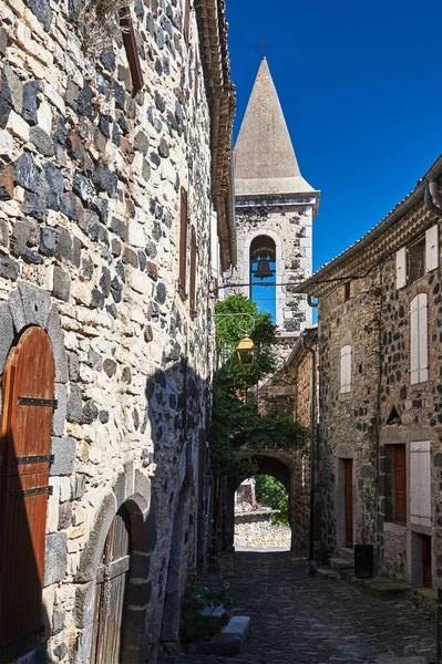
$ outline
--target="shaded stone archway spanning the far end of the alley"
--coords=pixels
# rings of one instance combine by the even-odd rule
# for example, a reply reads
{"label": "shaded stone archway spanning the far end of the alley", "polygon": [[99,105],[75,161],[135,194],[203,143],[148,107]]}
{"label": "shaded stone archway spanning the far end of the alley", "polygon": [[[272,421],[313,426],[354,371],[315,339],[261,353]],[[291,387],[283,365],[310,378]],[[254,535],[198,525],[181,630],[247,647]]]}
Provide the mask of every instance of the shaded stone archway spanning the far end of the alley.
{"label": "shaded stone archway spanning the far end of the alley", "polygon": [[[306,542],[308,542],[309,517],[306,513],[306,501],[299,500],[299,453],[263,449],[259,453],[240,453],[241,456],[250,457],[257,464],[256,475],[271,475],[278,479],[287,489],[289,497],[289,523],[291,528],[291,551],[306,554]],[[224,548],[232,550],[234,547],[235,532],[235,491],[246,477],[235,478],[227,481],[225,494],[225,539]],[[302,496],[302,498],[305,498]],[[308,496],[307,496],[308,498]]]}

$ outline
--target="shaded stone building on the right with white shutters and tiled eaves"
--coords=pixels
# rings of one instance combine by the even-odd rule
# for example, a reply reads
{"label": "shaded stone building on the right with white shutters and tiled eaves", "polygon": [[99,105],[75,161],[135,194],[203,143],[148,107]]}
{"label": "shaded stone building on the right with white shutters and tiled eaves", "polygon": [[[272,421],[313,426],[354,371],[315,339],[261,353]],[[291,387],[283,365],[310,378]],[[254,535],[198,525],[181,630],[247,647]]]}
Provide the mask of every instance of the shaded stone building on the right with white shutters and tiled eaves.
{"label": "shaded stone building on the right with white shutters and tiled eaves", "polygon": [[441,185],[440,157],[299,287],[318,298],[322,544],[372,544],[377,572],[414,588],[442,574]]}

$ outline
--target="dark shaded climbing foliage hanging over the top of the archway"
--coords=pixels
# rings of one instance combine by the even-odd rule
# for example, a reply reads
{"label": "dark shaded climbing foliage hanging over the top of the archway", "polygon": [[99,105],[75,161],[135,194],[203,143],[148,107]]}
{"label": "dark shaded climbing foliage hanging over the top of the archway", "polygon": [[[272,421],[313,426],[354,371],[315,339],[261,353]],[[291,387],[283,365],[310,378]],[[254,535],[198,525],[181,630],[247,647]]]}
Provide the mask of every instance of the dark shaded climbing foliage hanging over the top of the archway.
{"label": "dark shaded climbing foliage hanging over the top of the archway", "polygon": [[260,449],[305,449],[308,429],[294,422],[289,414],[261,415],[255,404],[217,387],[210,429],[210,461],[214,475],[240,478],[254,475],[250,457],[238,458],[247,450],[250,456]]}

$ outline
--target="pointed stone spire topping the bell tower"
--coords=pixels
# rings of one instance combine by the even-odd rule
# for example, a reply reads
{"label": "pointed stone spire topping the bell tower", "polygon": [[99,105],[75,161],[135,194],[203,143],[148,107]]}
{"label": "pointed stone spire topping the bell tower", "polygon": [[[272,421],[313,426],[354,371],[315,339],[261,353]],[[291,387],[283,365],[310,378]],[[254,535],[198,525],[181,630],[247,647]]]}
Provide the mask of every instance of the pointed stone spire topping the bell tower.
{"label": "pointed stone spire topping the bell tower", "polygon": [[300,174],[278,93],[263,58],[235,146],[237,195],[315,191]]}

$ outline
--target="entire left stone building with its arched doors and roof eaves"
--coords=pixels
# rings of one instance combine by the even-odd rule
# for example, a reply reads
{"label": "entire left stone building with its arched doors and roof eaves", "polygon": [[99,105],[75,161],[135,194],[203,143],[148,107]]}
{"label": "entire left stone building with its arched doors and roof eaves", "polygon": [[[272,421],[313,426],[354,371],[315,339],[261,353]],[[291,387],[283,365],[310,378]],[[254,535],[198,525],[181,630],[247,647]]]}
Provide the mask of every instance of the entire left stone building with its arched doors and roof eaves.
{"label": "entire left stone building with its arched doors and roof eaves", "polygon": [[4,664],[154,663],[204,553],[225,6],[121,7],[0,3]]}

